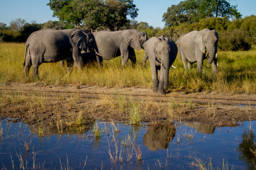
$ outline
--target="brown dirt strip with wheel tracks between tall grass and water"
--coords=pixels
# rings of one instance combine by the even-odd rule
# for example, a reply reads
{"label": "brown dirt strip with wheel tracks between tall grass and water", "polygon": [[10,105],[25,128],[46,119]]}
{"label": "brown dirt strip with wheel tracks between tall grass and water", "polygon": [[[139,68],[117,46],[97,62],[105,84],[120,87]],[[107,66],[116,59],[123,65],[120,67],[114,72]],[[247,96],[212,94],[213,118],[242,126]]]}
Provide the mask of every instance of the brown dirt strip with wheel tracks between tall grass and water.
{"label": "brown dirt strip with wheel tracks between tall grass and water", "polygon": [[70,120],[72,113],[100,121],[130,122],[129,111],[116,107],[116,102],[131,101],[141,103],[140,120],[149,124],[199,121],[236,126],[242,121],[256,120],[256,95],[246,94],[169,91],[158,95],[150,88],[0,83],[0,95],[0,118],[15,118],[26,124],[38,120],[56,122],[67,117]]}

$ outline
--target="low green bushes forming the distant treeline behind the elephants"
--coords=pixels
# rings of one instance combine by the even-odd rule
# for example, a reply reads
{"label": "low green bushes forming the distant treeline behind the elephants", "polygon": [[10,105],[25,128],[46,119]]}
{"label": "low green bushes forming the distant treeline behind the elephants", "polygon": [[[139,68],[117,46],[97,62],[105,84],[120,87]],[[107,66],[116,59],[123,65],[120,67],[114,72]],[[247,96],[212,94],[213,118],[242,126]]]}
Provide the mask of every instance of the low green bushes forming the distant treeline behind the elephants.
{"label": "low green bushes forming the distant treeline behind the elephants", "polygon": [[[71,25],[65,25],[63,22],[48,21],[43,24],[26,23],[20,25],[20,19],[13,21],[15,24],[0,23],[0,39],[5,42],[26,42],[27,37],[35,31],[43,28],[52,29],[68,29]],[[22,20],[21,20],[22,21]],[[19,27],[17,27],[19,25]],[[138,29],[147,33],[148,37],[161,35],[168,36],[173,40],[177,40],[183,33],[188,33],[193,30],[201,30],[204,28],[216,29],[219,36],[218,49],[220,50],[250,50],[256,49],[256,16],[246,16],[243,19],[235,19],[230,21],[227,17],[224,18],[205,18],[195,23],[183,23],[180,25],[172,25],[163,29],[154,28],[146,22],[138,23],[136,20],[131,20],[130,24],[121,29]],[[89,30],[91,31],[91,30]],[[99,29],[94,31],[100,31]]]}

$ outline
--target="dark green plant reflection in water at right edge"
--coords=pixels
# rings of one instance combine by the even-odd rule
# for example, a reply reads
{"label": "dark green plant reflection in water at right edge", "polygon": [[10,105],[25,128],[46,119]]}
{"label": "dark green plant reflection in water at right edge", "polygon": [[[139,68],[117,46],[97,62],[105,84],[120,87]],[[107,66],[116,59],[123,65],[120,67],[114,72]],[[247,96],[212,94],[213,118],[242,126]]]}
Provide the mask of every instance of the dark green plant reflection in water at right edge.
{"label": "dark green plant reflection in water at right edge", "polygon": [[246,162],[247,169],[256,169],[256,142],[251,129],[242,134],[242,142],[238,146],[238,151],[241,152],[239,158]]}

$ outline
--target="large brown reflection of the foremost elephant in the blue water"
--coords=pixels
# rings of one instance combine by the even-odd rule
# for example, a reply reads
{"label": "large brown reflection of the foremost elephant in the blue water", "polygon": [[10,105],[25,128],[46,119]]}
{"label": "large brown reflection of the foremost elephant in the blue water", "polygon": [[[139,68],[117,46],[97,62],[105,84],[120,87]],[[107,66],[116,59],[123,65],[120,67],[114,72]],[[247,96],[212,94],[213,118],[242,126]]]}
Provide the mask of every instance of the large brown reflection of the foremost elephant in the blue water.
{"label": "large brown reflection of the foremost elephant in the blue water", "polygon": [[152,151],[167,149],[169,142],[175,137],[174,125],[147,126],[147,133],[143,136],[143,144]]}

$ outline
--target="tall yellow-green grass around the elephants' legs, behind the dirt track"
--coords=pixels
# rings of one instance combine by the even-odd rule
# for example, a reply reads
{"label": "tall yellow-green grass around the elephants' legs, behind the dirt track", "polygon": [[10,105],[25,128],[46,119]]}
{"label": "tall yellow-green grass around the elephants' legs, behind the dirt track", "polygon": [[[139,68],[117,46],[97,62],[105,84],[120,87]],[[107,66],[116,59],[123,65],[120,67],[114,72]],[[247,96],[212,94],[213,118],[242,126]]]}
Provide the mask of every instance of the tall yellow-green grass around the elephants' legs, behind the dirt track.
{"label": "tall yellow-green grass around the elephants' legs, behind the dirt track", "polygon": [[[0,44],[0,82],[36,82],[43,84],[76,84],[106,87],[152,88],[149,62],[142,66],[144,51],[136,51],[137,66],[121,67],[121,57],[105,60],[101,69],[96,65],[87,66],[82,71],[73,69],[67,73],[59,63],[43,63],[39,66],[39,79],[23,74],[24,43]],[[256,92],[256,50],[240,52],[218,52],[218,74],[212,74],[212,66],[204,61],[203,73],[196,74],[196,63],[192,70],[184,71],[177,56],[169,76],[169,89],[172,91],[217,91]]]}

